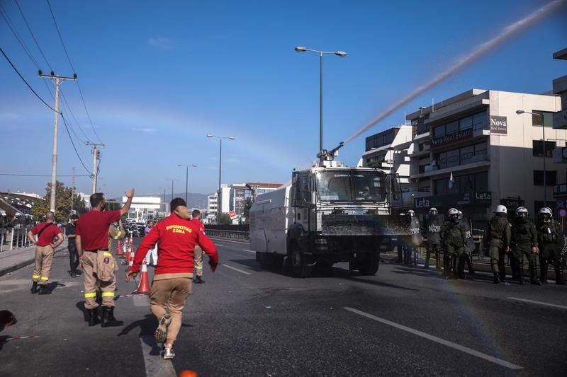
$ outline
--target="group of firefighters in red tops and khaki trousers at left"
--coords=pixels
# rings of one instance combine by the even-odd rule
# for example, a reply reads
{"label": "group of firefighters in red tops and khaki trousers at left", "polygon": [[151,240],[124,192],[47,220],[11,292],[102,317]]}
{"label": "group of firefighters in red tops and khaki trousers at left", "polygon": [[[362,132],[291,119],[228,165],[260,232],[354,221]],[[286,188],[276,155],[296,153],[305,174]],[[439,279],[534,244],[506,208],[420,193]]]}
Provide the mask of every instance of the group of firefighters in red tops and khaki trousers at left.
{"label": "group of firefighters in red tops and khaki trousers at left", "polygon": [[[128,213],[134,190],[125,192],[128,198],[121,209],[106,211],[103,194],[90,197],[91,211],[82,216],[71,216],[66,232],[71,276],[83,270],[84,308],[89,326],[117,327],[124,323],[114,317],[116,271],[118,264],[111,253],[113,239],[123,238],[120,217]],[[189,213],[186,202],[174,198],[171,214],[157,224],[148,222],[145,237],[137,248],[133,265],[125,281],[129,282],[140,272],[146,260],[155,265],[150,289],[150,310],[158,320],[155,339],[162,344],[164,359],[173,359],[173,344],[181,327],[181,313],[186,298],[191,294],[193,272],[196,283],[204,283],[203,254],[209,257],[211,271],[218,265],[218,253],[213,241],[204,233],[200,212]],[[117,226],[115,226],[117,224]],[[55,224],[55,214],[48,212],[45,222],[31,228],[28,237],[35,244],[35,269],[32,274],[32,294],[47,294],[55,248],[64,235]],[[99,316],[99,307],[102,313]]]}

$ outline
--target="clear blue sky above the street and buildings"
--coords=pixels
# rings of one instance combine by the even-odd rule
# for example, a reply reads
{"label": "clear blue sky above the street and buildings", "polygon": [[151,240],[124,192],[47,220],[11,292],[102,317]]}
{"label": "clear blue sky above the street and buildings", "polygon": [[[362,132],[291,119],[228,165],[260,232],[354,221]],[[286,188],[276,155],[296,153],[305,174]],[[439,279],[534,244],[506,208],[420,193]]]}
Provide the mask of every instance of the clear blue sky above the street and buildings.
{"label": "clear blue sky above the street and buildings", "polygon": [[[18,0],[56,74],[72,75],[47,4]],[[324,58],[325,146],[359,127],[549,1],[62,1],[51,0],[102,151],[99,190],[120,195],[163,192],[184,181],[177,163],[195,163],[191,192],[223,183],[285,182],[294,167],[315,160],[319,145],[319,62],[298,45],[344,50]],[[50,71],[14,0],[4,11],[44,72]],[[322,5],[324,4],[324,5]],[[567,47],[566,7],[515,35],[344,146],[339,159],[357,163],[364,137],[403,121],[404,112],[470,88],[542,93],[566,74],[551,54]],[[37,68],[0,18],[0,47],[52,105]],[[2,59],[4,59],[2,57]],[[50,175],[53,113],[5,60],[0,62],[0,173]],[[77,90],[62,85],[69,124],[96,141]],[[82,127],[82,130],[79,129]],[[86,134],[86,137],[82,134]],[[74,136],[91,170],[89,149]],[[57,173],[87,174],[60,122]],[[0,190],[44,193],[49,177],[0,175]],[[68,185],[71,178],[60,178]],[[77,188],[90,192],[87,177]],[[176,182],[175,192],[184,191]],[[179,190],[178,190],[179,189]]]}

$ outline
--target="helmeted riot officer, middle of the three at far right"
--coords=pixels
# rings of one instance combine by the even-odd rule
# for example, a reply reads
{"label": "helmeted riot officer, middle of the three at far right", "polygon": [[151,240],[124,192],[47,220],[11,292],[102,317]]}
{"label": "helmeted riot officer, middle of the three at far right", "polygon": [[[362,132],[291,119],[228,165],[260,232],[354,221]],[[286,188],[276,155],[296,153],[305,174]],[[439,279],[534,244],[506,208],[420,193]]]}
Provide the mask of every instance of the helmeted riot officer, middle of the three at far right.
{"label": "helmeted riot officer, middle of the three at far right", "polygon": [[512,275],[517,276],[518,282],[524,284],[524,255],[528,260],[529,282],[541,285],[537,279],[537,231],[534,223],[529,221],[526,207],[516,209],[516,219],[512,224],[512,246],[511,261]]}

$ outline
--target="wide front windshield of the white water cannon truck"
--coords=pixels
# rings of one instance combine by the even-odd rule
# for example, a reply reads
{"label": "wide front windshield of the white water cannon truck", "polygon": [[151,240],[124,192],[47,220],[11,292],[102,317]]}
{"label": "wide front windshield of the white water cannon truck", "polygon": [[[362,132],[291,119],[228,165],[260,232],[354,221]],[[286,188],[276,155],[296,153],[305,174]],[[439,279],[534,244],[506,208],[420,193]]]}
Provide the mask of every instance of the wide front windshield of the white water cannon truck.
{"label": "wide front windshield of the white water cannon truck", "polygon": [[317,174],[317,191],[323,202],[383,202],[386,175],[380,171],[327,170]]}

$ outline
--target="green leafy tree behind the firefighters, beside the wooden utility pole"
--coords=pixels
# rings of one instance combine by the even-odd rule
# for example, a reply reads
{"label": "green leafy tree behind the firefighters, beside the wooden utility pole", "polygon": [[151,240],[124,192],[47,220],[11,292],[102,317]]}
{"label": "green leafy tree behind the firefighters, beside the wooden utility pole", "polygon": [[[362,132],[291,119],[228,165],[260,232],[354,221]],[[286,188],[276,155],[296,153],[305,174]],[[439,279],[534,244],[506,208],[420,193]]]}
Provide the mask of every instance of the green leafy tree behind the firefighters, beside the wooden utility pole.
{"label": "green leafy tree behind the firefighters, beside the wooden utility pole", "polygon": [[[42,219],[50,210],[51,183],[48,182],[45,187],[45,200],[36,200],[31,208],[31,214],[36,219]],[[63,182],[55,183],[55,218],[58,221],[67,221],[71,216],[71,197],[73,197],[73,209],[79,214],[84,214],[86,204],[79,195],[74,193],[72,187],[66,187]]]}

